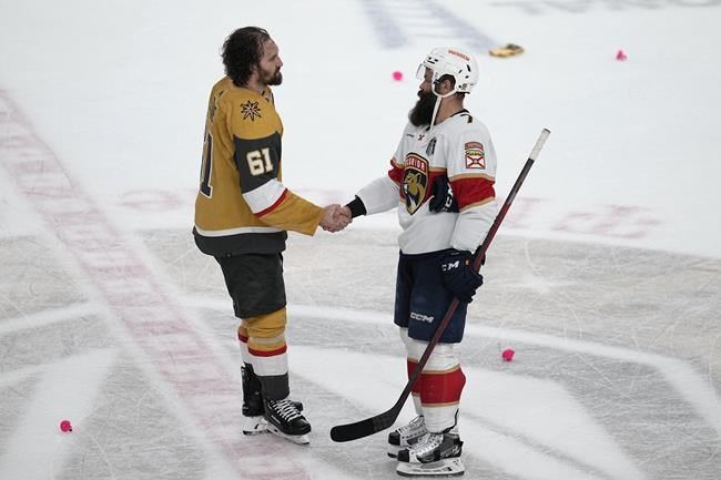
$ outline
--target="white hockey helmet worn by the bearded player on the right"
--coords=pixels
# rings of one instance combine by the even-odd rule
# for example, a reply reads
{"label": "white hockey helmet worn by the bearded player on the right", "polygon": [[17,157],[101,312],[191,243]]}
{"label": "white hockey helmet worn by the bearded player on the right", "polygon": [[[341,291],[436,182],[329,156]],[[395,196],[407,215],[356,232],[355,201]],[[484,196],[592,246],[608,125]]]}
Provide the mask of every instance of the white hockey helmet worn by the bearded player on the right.
{"label": "white hockey helmet worn by the bearded player on the right", "polygon": [[[456,80],[453,92],[444,95],[449,96],[453,93],[469,93],[478,83],[478,64],[470,53],[450,47],[439,47],[433,49],[418,65],[416,78],[423,80],[426,69],[433,71],[430,82],[436,84],[443,75],[450,75]],[[434,89],[435,90],[435,89]]]}

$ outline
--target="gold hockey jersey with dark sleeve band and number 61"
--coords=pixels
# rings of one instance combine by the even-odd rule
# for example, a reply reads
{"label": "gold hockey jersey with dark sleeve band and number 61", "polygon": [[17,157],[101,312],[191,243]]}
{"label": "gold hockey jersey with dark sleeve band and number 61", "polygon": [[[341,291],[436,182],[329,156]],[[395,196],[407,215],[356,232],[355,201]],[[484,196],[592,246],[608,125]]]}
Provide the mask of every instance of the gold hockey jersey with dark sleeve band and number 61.
{"label": "gold hockey jersey with dark sleeve band and number 61", "polygon": [[270,88],[257,94],[227,76],[213,86],[193,228],[203,253],[276,253],[286,231],[315,233],[323,208],[283,185],[282,136]]}

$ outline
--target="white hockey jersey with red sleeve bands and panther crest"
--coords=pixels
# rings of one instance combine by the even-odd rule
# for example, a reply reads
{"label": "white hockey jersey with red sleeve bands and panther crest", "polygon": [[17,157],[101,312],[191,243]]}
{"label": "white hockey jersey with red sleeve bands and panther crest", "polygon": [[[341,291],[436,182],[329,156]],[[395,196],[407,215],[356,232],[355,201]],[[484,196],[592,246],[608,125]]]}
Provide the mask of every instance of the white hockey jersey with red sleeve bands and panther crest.
{"label": "white hockey jersey with red sleeve bands and panther crest", "polygon": [[[435,125],[408,123],[390,160],[388,175],[357,196],[368,215],[398,207],[404,254],[445,248],[474,252],[497,214],[496,151],[486,125],[463,110]],[[429,211],[436,178],[450,181],[458,213]]]}

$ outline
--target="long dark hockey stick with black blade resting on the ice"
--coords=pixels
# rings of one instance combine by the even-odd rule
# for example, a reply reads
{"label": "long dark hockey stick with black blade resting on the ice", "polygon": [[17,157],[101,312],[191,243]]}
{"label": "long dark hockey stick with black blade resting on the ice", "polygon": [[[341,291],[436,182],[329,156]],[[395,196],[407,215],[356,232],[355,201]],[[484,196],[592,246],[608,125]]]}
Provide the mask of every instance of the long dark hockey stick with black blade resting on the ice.
{"label": "long dark hockey stick with black blade resting on the ice", "polygon": [[[530,155],[528,156],[528,160],[524,165],[524,168],[520,171],[518,178],[516,178],[516,183],[510,190],[508,197],[506,197],[506,202],[504,202],[504,205],[500,207],[500,211],[498,212],[498,215],[496,216],[494,224],[490,226],[490,229],[488,231],[488,234],[486,235],[484,243],[480,244],[478,249],[476,249],[475,253],[476,259],[474,261],[474,268],[476,269],[476,272],[478,272],[478,269],[480,268],[480,263],[484,261],[486,256],[486,251],[488,249],[490,242],[496,236],[496,232],[498,232],[500,224],[504,222],[504,218],[506,217],[506,213],[508,212],[508,208],[510,208],[510,204],[514,203],[514,200],[516,198],[516,194],[520,190],[521,184],[526,180],[526,175],[528,175],[530,167],[534,165],[534,162],[536,161],[538,153],[544,147],[544,143],[546,143],[546,139],[548,139],[548,135],[550,135],[550,133],[551,132],[548,129],[544,129],[544,131],[541,132],[540,136],[536,141],[536,145],[534,146],[534,150],[531,150]],[[410,390],[413,389],[413,386],[416,384],[416,380],[418,379],[420,372],[426,366],[426,362],[428,361],[428,358],[430,357],[433,349],[436,347],[436,344],[438,344],[438,340],[440,340],[440,336],[443,335],[444,330],[448,326],[448,323],[450,321],[450,317],[453,317],[453,315],[456,313],[456,308],[458,308],[458,304],[459,304],[458,298],[454,298],[453,302],[450,303],[450,306],[448,307],[446,315],[443,317],[443,320],[440,320],[440,324],[438,324],[438,327],[436,327],[436,333],[434,334],[433,338],[428,343],[428,346],[426,347],[426,350],[423,353],[423,356],[418,360],[418,365],[416,366],[416,369],[410,375],[410,378],[408,378],[406,388],[403,389],[403,392],[400,394],[398,401],[396,401],[396,404],[390,408],[390,410],[384,411],[380,415],[376,415],[375,417],[370,417],[365,420],[356,421],[355,423],[338,425],[336,427],[333,427],[331,429],[331,438],[333,439],[333,441],[351,441],[351,440],[357,440],[363,437],[368,437],[373,433],[377,433],[382,430],[385,430],[396,421],[398,415],[400,413],[400,410],[403,409],[403,406],[408,399],[408,395],[410,395]]]}

